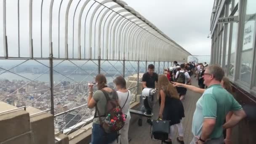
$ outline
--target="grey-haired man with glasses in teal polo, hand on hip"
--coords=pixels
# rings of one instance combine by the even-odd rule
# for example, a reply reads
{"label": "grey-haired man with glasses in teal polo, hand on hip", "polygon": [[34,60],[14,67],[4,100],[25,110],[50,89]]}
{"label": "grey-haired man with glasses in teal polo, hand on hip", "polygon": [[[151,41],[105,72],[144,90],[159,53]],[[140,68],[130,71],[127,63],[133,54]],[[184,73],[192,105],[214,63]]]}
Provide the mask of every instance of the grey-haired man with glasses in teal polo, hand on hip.
{"label": "grey-haired man with glasses in teal polo, hand on hip", "polygon": [[[218,65],[210,65],[204,73],[204,84],[208,87],[198,99],[192,122],[194,138],[190,144],[224,144],[223,127],[230,128],[245,117],[245,112],[234,97],[221,87],[224,71]],[[231,119],[224,120],[229,111]]]}

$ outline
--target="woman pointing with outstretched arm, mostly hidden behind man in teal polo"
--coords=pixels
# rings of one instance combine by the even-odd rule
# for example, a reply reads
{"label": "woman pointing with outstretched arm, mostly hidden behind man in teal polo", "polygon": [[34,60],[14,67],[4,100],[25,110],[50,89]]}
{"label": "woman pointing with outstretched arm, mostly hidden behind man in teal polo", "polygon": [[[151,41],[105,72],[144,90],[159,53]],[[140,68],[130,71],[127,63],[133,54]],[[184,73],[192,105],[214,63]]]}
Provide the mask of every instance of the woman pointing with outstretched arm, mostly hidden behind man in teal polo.
{"label": "woman pointing with outstretched arm, mostly hidden behind man in teal polo", "polygon": [[[182,86],[184,88],[187,88],[191,91],[195,91],[197,93],[201,93],[203,94],[203,92],[205,91],[205,89],[203,88],[197,88],[193,85],[185,85],[185,84],[182,84],[182,83],[175,83],[175,82],[172,82],[173,85],[176,87],[176,86]],[[230,82],[229,82],[229,79],[227,77],[223,77],[222,80],[221,80],[221,86],[222,88],[225,88],[229,93],[232,94],[232,88],[231,88],[231,85],[230,85]],[[226,120],[225,122],[229,121],[229,119],[231,118],[231,116],[233,115],[233,112],[228,112],[227,115],[226,115]],[[224,123],[225,123],[224,122]],[[228,128],[227,130],[224,130],[223,132],[223,135],[224,135],[224,141],[225,141],[225,144],[232,144],[231,142],[231,134],[232,134],[232,128]]]}

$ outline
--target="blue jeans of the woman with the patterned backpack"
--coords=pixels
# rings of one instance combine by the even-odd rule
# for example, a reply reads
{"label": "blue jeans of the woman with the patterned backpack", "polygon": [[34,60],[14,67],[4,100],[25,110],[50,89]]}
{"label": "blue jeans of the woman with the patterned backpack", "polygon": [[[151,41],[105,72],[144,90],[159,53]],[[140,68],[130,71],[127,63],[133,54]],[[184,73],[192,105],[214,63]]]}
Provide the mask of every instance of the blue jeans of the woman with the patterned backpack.
{"label": "blue jeans of the woman with the patterned backpack", "polygon": [[117,132],[105,133],[101,125],[93,123],[91,144],[109,144],[117,139]]}

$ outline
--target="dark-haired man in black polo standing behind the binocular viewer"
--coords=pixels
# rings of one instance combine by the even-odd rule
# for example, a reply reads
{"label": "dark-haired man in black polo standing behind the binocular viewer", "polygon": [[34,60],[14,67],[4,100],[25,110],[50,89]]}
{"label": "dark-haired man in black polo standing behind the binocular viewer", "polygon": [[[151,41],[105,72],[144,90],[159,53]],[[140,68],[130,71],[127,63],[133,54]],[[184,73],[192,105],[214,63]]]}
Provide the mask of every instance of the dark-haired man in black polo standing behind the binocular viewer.
{"label": "dark-haired man in black polo standing behind the binocular viewer", "polygon": [[[155,88],[155,83],[158,81],[158,75],[154,72],[155,66],[153,64],[149,64],[148,72],[144,73],[142,77],[142,87],[143,88]],[[151,114],[151,110],[149,109],[148,99],[144,99],[144,106],[146,108],[146,113]],[[147,120],[148,123],[151,123],[151,120]]]}

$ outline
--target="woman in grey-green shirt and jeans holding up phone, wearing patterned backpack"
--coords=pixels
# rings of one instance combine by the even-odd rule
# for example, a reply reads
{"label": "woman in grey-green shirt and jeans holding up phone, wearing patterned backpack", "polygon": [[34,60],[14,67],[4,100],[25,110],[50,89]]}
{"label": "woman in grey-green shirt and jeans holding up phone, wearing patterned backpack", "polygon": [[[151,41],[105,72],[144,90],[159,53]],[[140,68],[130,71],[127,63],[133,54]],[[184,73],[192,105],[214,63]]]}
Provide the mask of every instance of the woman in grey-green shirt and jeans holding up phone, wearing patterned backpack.
{"label": "woman in grey-green shirt and jeans holding up phone, wearing patterned backpack", "polygon": [[[110,99],[118,100],[117,92],[107,87],[106,77],[102,74],[96,75],[95,81],[98,90],[93,94],[93,85],[89,85],[88,108],[95,107],[95,115],[93,118],[91,144],[111,144],[117,139],[117,132],[106,133],[102,128],[106,117],[107,99],[104,92]],[[104,92],[103,92],[104,91]]]}

